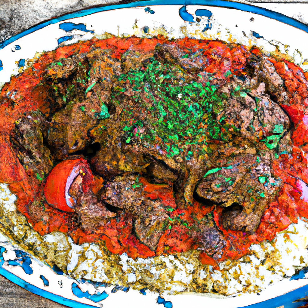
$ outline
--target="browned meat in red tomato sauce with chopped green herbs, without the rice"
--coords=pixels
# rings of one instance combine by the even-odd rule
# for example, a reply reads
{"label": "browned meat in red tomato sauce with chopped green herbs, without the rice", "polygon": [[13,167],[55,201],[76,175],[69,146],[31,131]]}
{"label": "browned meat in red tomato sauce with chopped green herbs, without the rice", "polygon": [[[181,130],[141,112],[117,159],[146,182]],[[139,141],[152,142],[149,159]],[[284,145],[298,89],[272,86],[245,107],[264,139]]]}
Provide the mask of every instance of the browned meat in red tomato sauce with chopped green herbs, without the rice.
{"label": "browned meat in red tomato sauce with chopped green herbs, without the rice", "polygon": [[299,67],[256,47],[59,47],[2,88],[0,180],[40,235],[238,259],[307,216],[307,95]]}

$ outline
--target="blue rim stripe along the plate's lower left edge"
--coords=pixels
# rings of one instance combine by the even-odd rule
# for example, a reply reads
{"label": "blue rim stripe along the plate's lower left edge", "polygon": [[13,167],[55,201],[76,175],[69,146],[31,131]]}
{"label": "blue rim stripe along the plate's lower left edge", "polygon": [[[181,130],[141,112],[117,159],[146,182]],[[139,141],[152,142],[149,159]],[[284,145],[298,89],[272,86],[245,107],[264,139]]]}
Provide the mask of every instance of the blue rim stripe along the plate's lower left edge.
{"label": "blue rim stripe along the plate's lower left edge", "polygon": [[22,288],[36,294],[39,296],[43,296],[44,298],[48,298],[54,302],[57,302],[59,304],[72,307],[72,308],[97,308],[97,306],[87,305],[80,302],[73,301],[71,299],[64,298],[60,295],[56,295],[53,293],[50,293],[46,290],[42,290],[36,286],[31,285],[30,283],[24,281],[23,279],[15,276],[14,274],[10,273],[9,271],[5,270],[0,265],[0,274],[4,276],[5,278],[9,279],[11,282],[14,282],[18,286],[21,286]]}

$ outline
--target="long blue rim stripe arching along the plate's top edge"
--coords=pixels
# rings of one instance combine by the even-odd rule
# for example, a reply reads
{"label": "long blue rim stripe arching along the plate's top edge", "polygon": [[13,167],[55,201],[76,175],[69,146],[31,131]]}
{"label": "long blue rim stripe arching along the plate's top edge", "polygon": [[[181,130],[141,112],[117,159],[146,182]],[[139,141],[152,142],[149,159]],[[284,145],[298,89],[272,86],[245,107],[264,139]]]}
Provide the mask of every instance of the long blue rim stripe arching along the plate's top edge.
{"label": "long blue rim stripe arching along the plate's top edge", "polygon": [[97,6],[92,7],[89,9],[79,10],[73,13],[68,13],[60,17],[52,18],[45,22],[39,23],[36,26],[32,26],[29,29],[16,34],[9,39],[0,43],[0,49],[7,46],[8,44],[16,41],[17,39],[22,38],[23,36],[33,33],[36,30],[42,29],[48,25],[55,24],[57,22],[61,22],[70,18],[82,17],[87,16],[93,13],[98,13],[102,11],[109,11],[115,9],[123,9],[129,7],[138,7],[138,6],[153,6],[153,5],[206,5],[206,6],[215,6],[215,7],[225,7],[229,9],[241,10],[243,12],[250,12],[258,15],[262,15],[265,17],[269,17],[275,19],[279,22],[283,22],[287,25],[294,26],[300,30],[303,30],[308,33],[308,25],[299,22],[298,20],[283,15],[278,12],[274,12],[271,10],[264,9],[262,7],[253,6],[250,4],[239,3],[239,2],[229,2],[225,0],[152,0],[152,1],[138,1],[138,2],[131,2],[126,4],[116,4],[116,5],[105,5],[105,6]]}

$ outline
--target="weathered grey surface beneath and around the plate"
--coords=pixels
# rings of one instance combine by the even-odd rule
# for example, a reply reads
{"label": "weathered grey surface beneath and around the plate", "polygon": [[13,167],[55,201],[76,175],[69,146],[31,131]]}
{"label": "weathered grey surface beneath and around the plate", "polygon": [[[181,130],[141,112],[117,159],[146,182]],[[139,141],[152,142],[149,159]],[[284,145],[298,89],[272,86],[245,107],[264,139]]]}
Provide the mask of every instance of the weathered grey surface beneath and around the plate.
{"label": "weathered grey surface beneath and around the plate", "polygon": [[[132,2],[131,0],[124,0]],[[124,2],[123,1],[123,2]],[[237,0],[239,2],[272,2],[277,0]],[[49,18],[88,6],[119,2],[116,0],[0,0],[0,41]],[[122,2],[122,1],[121,1]],[[282,2],[308,3],[307,0]],[[296,16],[297,17],[297,16]],[[300,20],[300,16],[297,17]],[[0,308],[61,308],[63,305],[34,295],[0,275]]]}

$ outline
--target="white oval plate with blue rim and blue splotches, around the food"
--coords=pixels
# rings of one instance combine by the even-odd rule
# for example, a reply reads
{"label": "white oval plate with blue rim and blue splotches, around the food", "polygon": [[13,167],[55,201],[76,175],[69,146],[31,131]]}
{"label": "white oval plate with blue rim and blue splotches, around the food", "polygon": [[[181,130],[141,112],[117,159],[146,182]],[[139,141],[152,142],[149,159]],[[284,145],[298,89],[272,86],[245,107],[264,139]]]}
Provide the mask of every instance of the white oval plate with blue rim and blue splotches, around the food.
{"label": "white oval plate with blue rim and blue splotches, around the food", "polygon": [[[104,38],[106,33],[121,37],[152,37],[162,34],[169,38],[188,36],[198,39],[220,39],[246,46],[256,45],[267,52],[274,52],[278,46],[282,54],[289,55],[296,64],[308,70],[308,63],[304,60],[308,58],[307,25],[274,11],[237,2],[204,0],[185,1],[185,4],[183,6],[183,3],[178,1],[144,1],[99,6],[33,26],[0,44],[0,86],[9,82],[12,75],[22,72],[30,63],[29,59],[37,58],[40,52],[51,51],[59,45],[76,43],[79,40],[85,41],[94,36]],[[206,18],[199,23],[195,22],[198,9],[209,12],[208,15],[203,15]],[[68,22],[70,24],[67,24]],[[10,194],[5,184],[0,186],[2,205],[5,205],[10,213],[14,211],[15,197]],[[288,230],[300,234],[293,240],[303,248],[295,248],[290,242],[283,246],[283,235],[279,234],[275,243],[281,245],[281,261],[286,266],[302,268],[299,255],[302,254],[308,262],[305,249],[308,244],[307,225],[299,221],[296,225],[290,225]],[[265,277],[261,286],[263,291],[260,294],[244,294],[238,291],[238,296],[232,295],[227,298],[213,297],[213,294],[160,294],[159,297],[158,293],[145,290],[115,292],[114,286],[80,283],[57,269],[51,269],[3,235],[0,235],[0,246],[0,274],[34,294],[69,307],[115,307],[125,303],[125,306],[135,308],[157,307],[157,304],[161,307],[177,308],[191,305],[192,302],[197,306],[230,308],[248,306],[248,303],[249,307],[298,307],[302,306],[303,302],[292,302],[305,297],[308,291],[305,279],[298,279],[305,278],[303,272],[291,280],[276,278],[277,282],[268,288]],[[286,249],[294,252],[295,259],[293,255],[293,260],[286,256]],[[249,272],[246,275],[249,275]],[[232,283],[229,288],[234,289],[236,293]],[[222,298],[225,300],[222,301]]]}

